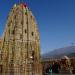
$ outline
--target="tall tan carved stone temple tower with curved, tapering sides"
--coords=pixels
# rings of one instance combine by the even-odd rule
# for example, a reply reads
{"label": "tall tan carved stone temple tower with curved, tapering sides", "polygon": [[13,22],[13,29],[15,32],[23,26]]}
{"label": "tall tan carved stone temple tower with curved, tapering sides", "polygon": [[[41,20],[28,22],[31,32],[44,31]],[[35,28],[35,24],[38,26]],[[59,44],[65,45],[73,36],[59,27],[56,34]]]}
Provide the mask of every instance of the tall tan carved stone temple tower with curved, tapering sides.
{"label": "tall tan carved stone temple tower with curved, tapering sides", "polygon": [[2,44],[3,75],[41,75],[36,20],[26,4],[11,9]]}

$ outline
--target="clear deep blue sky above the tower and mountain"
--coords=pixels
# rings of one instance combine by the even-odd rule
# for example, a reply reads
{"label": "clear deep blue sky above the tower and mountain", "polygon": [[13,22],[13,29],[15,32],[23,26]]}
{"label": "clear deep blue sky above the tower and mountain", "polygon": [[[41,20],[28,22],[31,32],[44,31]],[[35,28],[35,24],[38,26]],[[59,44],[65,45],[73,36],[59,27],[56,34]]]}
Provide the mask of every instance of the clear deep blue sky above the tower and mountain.
{"label": "clear deep blue sky above the tower and mountain", "polygon": [[75,0],[0,0],[0,37],[15,3],[24,2],[32,11],[40,32],[41,53],[75,43]]}

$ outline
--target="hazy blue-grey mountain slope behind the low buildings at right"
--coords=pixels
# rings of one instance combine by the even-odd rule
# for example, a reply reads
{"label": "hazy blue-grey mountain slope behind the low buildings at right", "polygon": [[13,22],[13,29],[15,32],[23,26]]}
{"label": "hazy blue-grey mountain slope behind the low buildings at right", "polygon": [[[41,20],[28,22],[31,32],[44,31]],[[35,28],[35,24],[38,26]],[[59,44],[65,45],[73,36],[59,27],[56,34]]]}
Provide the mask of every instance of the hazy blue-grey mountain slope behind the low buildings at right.
{"label": "hazy blue-grey mountain slope behind the low buildings at right", "polygon": [[61,58],[63,56],[73,57],[75,56],[75,46],[68,46],[64,48],[55,49],[42,55],[42,58]]}

